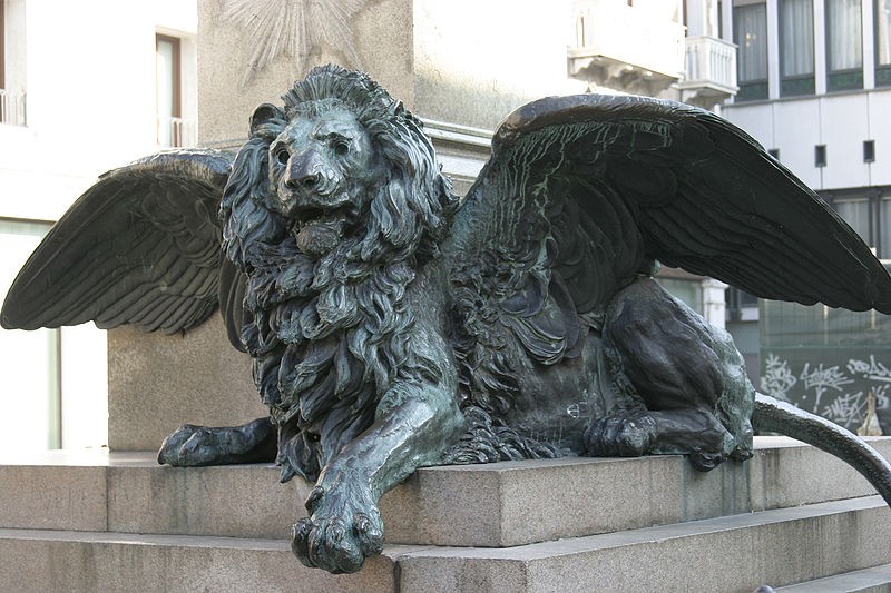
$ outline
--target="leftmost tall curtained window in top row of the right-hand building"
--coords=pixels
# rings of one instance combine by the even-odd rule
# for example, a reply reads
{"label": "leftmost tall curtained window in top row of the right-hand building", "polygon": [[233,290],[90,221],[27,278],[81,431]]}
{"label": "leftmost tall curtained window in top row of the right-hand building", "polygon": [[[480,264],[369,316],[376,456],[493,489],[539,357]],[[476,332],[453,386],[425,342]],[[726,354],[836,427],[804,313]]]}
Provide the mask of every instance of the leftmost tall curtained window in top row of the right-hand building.
{"label": "leftmost tall curtained window in top row of the right-hand building", "polygon": [[734,6],[733,41],[738,47],[736,75],[737,101],[767,98],[767,6]]}

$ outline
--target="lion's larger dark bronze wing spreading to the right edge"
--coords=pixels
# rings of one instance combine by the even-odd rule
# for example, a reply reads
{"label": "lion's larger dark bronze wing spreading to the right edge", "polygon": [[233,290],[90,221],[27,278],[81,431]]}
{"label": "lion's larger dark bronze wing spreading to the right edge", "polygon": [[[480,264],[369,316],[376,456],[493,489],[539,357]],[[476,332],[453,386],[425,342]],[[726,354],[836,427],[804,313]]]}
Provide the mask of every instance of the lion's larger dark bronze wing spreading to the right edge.
{"label": "lion's larger dark bronze wing spreading to the right edge", "polygon": [[657,99],[515,111],[448,250],[459,299],[493,297],[541,362],[574,344],[567,305],[596,318],[653,260],[763,298],[891,313],[888,273],[822,199],[730,122]]}

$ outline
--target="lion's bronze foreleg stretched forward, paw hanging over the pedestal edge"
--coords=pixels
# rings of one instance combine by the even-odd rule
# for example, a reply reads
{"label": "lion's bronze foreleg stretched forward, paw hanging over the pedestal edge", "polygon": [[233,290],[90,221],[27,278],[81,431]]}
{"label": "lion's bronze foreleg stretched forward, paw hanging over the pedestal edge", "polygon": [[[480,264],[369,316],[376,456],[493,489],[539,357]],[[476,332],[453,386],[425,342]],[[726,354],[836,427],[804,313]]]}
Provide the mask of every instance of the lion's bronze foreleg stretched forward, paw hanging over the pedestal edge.
{"label": "lion's bronze foreleg stretched forward, paw hanging over the pedestal edge", "polygon": [[291,547],[307,566],[355,572],[383,550],[378,501],[415,468],[433,465],[463,428],[452,392],[404,384],[391,388],[376,422],[346,445],[306,501],[310,517],[293,530]]}

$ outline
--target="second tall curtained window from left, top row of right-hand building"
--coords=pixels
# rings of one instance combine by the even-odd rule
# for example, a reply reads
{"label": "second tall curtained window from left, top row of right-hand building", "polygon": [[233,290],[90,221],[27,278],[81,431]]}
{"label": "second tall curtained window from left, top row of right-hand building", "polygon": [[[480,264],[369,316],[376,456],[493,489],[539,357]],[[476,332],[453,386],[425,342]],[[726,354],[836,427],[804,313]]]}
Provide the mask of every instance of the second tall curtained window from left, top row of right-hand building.
{"label": "second tall curtained window from left, top row of right-hand building", "polygon": [[814,93],[812,0],[780,0],[780,93]]}

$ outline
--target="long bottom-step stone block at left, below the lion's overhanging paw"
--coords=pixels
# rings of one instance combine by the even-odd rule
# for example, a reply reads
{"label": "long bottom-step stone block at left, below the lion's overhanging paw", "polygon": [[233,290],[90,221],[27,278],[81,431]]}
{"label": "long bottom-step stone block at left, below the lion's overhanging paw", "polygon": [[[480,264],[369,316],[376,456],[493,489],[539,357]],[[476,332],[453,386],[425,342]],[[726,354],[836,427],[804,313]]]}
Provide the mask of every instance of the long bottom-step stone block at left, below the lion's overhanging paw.
{"label": "long bottom-step stone block at left, below the lion's overhanging paw", "polygon": [[0,530],[0,590],[391,593],[394,559],[410,550],[332,575],[303,566],[283,541]]}

